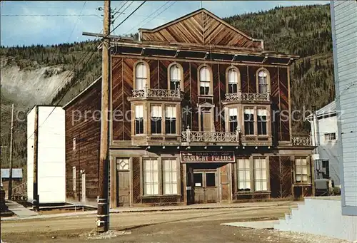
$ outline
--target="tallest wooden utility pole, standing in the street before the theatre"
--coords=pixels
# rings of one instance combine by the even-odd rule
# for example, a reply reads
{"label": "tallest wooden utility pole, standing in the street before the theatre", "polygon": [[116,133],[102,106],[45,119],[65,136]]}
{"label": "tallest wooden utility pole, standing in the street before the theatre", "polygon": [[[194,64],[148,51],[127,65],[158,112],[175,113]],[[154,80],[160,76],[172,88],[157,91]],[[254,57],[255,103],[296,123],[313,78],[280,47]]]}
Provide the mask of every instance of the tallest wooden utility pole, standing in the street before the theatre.
{"label": "tallest wooden utility pole, standing in the street before the theatre", "polygon": [[101,145],[99,152],[99,197],[97,213],[97,232],[107,232],[109,229],[109,41],[110,33],[110,1],[104,0],[103,45],[101,68]]}

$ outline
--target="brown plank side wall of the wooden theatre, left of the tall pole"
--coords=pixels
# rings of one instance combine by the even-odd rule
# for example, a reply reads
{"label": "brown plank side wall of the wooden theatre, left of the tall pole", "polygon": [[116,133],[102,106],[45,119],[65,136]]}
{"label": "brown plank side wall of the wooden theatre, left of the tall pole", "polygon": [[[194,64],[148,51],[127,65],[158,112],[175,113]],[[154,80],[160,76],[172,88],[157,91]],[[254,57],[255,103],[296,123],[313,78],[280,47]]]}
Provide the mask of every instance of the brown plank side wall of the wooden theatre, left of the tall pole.
{"label": "brown plank side wall of the wooden theatre, left of the tall pole", "polygon": [[[101,81],[97,81],[66,110],[66,198],[81,200],[81,174],[86,173],[86,198],[98,195]],[[73,139],[76,138],[76,149]],[[73,191],[72,168],[76,167],[76,192]]]}

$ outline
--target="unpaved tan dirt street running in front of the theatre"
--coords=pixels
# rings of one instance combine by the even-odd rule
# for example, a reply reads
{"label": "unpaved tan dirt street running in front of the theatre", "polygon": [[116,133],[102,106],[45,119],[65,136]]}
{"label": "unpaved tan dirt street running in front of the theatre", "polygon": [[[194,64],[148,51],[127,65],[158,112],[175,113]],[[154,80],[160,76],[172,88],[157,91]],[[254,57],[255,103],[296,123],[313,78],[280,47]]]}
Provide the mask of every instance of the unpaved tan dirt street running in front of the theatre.
{"label": "unpaved tan dirt street running in front of the theatre", "polygon": [[290,207],[111,214],[111,229],[129,233],[111,239],[87,239],[86,236],[95,228],[95,214],[16,220],[1,222],[1,239],[4,242],[343,242],[296,233],[220,225],[223,222],[276,219],[289,212]]}

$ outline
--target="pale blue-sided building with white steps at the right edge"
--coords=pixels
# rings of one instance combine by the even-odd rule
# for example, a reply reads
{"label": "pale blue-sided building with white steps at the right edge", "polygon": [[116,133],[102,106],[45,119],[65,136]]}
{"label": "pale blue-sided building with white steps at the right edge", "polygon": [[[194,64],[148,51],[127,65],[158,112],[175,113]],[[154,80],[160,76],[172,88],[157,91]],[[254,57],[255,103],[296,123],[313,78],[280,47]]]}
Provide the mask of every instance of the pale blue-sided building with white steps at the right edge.
{"label": "pale blue-sided building with white steps at the right edge", "polygon": [[274,228],[357,241],[357,1],[331,1],[341,197],[311,197]]}

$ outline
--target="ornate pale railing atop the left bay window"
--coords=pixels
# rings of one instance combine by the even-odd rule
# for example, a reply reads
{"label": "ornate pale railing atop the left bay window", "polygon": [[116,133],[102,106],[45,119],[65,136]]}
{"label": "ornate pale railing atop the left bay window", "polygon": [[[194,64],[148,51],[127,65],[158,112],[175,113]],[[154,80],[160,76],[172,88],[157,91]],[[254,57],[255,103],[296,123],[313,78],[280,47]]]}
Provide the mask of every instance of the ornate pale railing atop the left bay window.
{"label": "ornate pale railing atop the left bay window", "polygon": [[182,100],[183,92],[177,88],[176,90],[159,89],[159,88],[144,88],[132,91],[130,100]]}

